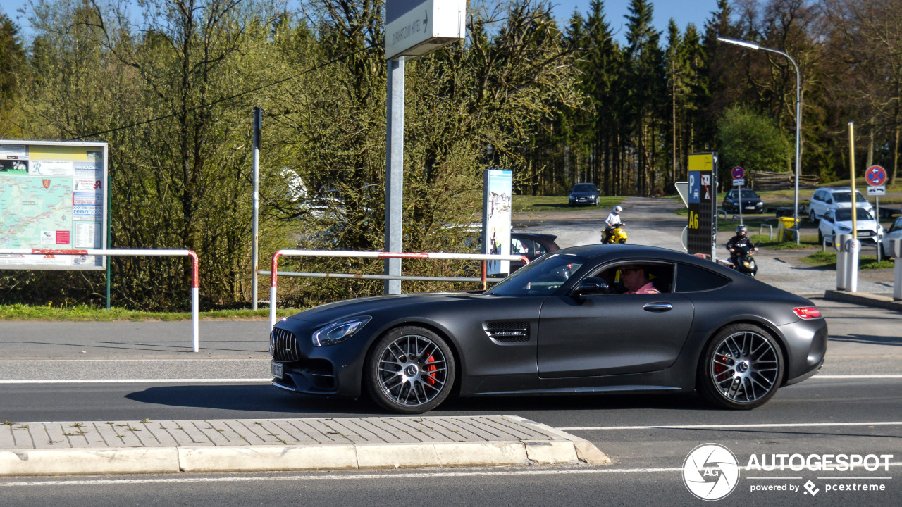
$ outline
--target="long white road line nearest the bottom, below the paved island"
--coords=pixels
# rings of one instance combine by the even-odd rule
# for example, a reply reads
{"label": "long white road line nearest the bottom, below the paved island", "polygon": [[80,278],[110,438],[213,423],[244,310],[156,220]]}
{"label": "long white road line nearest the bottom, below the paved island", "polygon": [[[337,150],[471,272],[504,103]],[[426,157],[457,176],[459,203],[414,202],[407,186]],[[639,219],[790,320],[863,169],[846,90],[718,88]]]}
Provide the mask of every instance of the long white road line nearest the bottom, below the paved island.
{"label": "long white road line nearest the bottom, below the paved island", "polygon": [[[889,463],[887,466],[902,466],[902,462]],[[231,477],[159,477],[159,478],[124,478],[124,479],[96,479],[96,480],[72,480],[72,481],[15,481],[3,482],[0,478],[0,487],[13,486],[91,486],[103,484],[192,484],[192,483],[242,483],[242,482],[264,482],[264,481],[338,481],[338,480],[373,480],[381,481],[389,479],[411,479],[422,477],[485,477],[485,476],[504,476],[504,475],[606,475],[606,474],[658,474],[669,472],[683,472],[682,466],[661,467],[661,468],[570,468],[567,470],[548,470],[540,468],[538,470],[483,470],[474,472],[411,472],[406,474],[362,474],[354,475],[276,475],[265,477],[248,477],[248,476],[231,476]]]}

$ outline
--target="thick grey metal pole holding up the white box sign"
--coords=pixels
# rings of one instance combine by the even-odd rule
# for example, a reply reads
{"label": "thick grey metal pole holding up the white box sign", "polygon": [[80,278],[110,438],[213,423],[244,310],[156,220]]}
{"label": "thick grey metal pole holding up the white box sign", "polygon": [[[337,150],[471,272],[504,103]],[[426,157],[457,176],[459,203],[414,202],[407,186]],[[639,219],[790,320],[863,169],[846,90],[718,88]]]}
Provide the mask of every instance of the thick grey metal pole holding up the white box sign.
{"label": "thick grey metal pole holding up the white box sign", "polygon": [[[404,206],[404,57],[388,60],[385,140],[385,252],[401,252]],[[385,260],[385,274],[400,276],[400,258]],[[385,281],[386,294],[400,294],[400,280]]]}

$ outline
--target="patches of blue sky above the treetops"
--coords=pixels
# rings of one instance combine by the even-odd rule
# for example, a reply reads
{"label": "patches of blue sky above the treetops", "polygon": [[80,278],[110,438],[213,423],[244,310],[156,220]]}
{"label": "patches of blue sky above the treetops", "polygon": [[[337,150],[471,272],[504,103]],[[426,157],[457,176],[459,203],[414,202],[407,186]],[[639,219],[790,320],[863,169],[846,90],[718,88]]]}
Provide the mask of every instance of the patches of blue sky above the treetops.
{"label": "patches of blue sky above the treetops", "polygon": [[[589,11],[590,0],[551,0],[554,4],[555,14],[557,18],[566,21],[574,9],[578,9],[585,15]],[[2,9],[6,15],[13,18],[14,22],[23,27],[23,33],[28,35],[28,23],[21,14],[16,10],[27,5],[28,0],[3,0]],[[611,29],[616,32],[615,38],[623,41],[626,32],[626,20],[623,16],[629,14],[628,7],[630,0],[605,0],[604,12],[608,23],[611,23]],[[710,13],[716,8],[717,0],[653,0],[654,5],[654,24],[661,31],[667,31],[667,21],[672,17],[679,26],[680,32],[686,30],[686,24],[695,23],[695,26],[701,30],[704,26],[704,20],[708,18]],[[661,44],[667,41],[666,36],[662,37]]]}

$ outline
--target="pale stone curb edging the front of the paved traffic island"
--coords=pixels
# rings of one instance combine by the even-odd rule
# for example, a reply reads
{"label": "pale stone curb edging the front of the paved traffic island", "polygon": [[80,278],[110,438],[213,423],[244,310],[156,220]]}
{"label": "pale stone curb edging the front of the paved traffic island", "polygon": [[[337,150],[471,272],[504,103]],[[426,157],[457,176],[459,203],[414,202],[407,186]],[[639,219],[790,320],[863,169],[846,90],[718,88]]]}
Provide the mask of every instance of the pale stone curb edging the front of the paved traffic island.
{"label": "pale stone curb edging the front of the paved traffic island", "polygon": [[516,440],[435,444],[0,450],[0,476],[271,472],[435,466],[603,465],[591,442]]}

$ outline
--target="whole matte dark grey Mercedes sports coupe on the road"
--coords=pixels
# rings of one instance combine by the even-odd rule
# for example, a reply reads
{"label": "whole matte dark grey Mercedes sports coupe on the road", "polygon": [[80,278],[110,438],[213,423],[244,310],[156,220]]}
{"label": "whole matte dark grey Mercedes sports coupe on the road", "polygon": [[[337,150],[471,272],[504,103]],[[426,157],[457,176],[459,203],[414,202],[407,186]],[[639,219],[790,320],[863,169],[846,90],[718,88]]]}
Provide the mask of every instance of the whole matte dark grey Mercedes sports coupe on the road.
{"label": "whole matte dark grey Mercedes sports coupe on the road", "polygon": [[[625,293],[627,290],[637,293]],[[273,383],[368,393],[400,413],[446,397],[697,390],[752,409],[824,363],[805,298],[685,253],[587,245],[489,290],[330,303],[272,329]]]}

